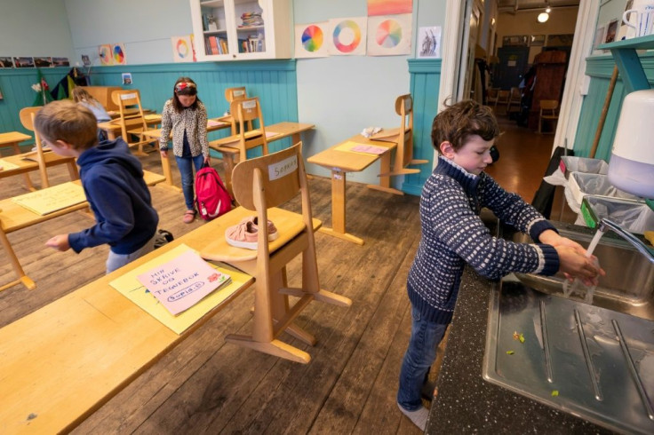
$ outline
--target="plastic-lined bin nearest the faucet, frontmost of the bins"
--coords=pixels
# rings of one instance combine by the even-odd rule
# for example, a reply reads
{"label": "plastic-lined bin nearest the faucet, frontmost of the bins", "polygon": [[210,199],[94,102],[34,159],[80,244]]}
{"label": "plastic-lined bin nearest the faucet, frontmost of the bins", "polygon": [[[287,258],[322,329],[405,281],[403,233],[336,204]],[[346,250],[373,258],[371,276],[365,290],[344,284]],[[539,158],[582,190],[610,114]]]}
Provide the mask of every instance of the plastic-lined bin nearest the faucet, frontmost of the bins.
{"label": "plastic-lined bin nearest the faucet, frontmost of the bins", "polygon": [[654,211],[645,202],[588,195],[581,202],[581,216],[591,228],[608,218],[630,233],[654,230]]}

